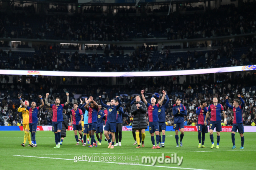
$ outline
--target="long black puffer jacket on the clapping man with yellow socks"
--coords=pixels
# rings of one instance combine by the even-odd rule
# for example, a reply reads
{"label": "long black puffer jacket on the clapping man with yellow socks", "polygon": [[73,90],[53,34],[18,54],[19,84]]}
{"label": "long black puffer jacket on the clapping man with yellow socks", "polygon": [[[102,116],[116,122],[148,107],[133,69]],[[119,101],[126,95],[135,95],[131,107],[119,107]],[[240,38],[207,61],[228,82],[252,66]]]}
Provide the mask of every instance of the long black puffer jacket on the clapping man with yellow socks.
{"label": "long black puffer jacket on the clapping man with yellow socks", "polygon": [[140,108],[138,110],[136,104],[133,104],[131,107],[131,114],[134,115],[132,122],[132,130],[148,129],[148,124],[145,118],[145,114],[148,110],[147,106],[142,102],[138,102],[138,104],[140,104]]}

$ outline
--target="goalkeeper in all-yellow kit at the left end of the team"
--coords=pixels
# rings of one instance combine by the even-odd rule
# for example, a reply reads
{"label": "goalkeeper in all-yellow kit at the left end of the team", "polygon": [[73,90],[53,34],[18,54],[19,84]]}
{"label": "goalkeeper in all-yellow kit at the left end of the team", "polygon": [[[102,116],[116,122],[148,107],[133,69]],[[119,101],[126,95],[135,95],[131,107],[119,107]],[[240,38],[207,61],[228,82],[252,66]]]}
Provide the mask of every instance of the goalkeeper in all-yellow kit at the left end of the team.
{"label": "goalkeeper in all-yellow kit at the left end of the team", "polygon": [[[29,105],[29,102],[26,100],[24,102],[25,105]],[[28,139],[28,146],[29,147],[31,145],[31,140],[30,140],[30,135],[29,135],[29,126],[28,126],[28,121],[29,121],[29,111],[28,109],[26,109],[25,107],[22,108],[22,105],[20,105],[20,107],[18,108],[18,112],[22,112],[22,125],[23,125],[23,130],[24,130],[24,133],[25,133],[25,136],[24,136],[24,142],[21,144],[22,147],[25,147],[25,143]]]}

